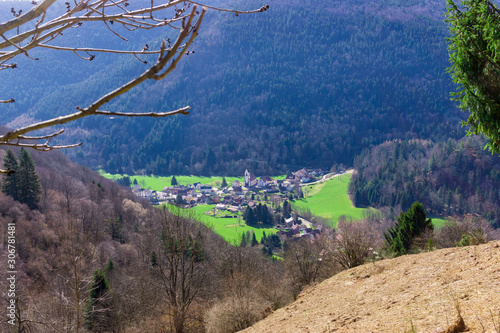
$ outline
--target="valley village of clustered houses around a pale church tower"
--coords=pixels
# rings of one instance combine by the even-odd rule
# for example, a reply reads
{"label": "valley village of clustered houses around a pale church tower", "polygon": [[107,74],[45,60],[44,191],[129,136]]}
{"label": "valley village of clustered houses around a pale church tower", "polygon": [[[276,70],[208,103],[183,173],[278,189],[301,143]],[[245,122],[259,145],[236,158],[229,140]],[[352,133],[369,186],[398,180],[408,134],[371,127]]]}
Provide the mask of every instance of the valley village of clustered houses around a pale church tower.
{"label": "valley village of clustered houses around a pale church tower", "polygon": [[[243,183],[235,180],[220,187],[194,183],[177,184],[164,187],[162,191],[143,189],[135,184],[132,191],[135,195],[145,198],[153,205],[170,204],[183,208],[197,205],[215,205],[205,214],[219,218],[242,218],[249,210],[256,211],[264,205],[272,216],[267,226],[278,229],[277,235],[282,239],[299,237],[314,237],[321,232],[320,227],[312,225],[303,217],[289,208],[289,202],[303,197],[302,186],[326,179],[330,175],[321,169],[300,169],[289,175],[273,179],[269,176],[257,178],[245,170]],[[246,220],[245,220],[246,221]],[[247,221],[246,221],[247,222]],[[247,222],[250,224],[249,222]],[[259,221],[259,223],[262,223]]]}

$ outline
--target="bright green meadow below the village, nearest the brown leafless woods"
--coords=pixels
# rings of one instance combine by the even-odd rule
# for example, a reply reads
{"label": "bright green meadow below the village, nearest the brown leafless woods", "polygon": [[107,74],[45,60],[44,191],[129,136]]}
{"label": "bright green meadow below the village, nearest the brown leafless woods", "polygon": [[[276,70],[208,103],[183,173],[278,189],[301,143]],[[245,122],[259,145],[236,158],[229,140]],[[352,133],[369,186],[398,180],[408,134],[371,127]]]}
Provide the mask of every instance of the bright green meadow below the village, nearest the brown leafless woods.
{"label": "bright green meadow below the village, nearest the brown leafless woods", "polygon": [[249,227],[241,218],[221,218],[205,215],[205,212],[210,211],[214,207],[215,205],[199,205],[190,208],[190,211],[194,213],[194,217],[196,220],[202,222],[209,228],[212,228],[217,234],[222,236],[227,242],[231,244],[234,244],[234,242],[236,242],[236,244],[239,245],[241,234],[243,232],[253,231],[255,237],[260,242],[264,231],[266,232],[266,235],[275,234],[278,231],[274,228]]}

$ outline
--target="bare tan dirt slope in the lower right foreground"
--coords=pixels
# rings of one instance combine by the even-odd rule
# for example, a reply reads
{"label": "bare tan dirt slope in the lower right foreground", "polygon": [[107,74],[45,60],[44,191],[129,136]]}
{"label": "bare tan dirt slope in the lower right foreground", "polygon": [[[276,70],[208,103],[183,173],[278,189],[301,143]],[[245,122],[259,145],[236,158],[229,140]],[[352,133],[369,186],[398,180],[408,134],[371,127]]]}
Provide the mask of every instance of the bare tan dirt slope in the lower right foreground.
{"label": "bare tan dirt slope in the lower right foreground", "polygon": [[341,272],[244,330],[500,332],[500,242],[402,256]]}

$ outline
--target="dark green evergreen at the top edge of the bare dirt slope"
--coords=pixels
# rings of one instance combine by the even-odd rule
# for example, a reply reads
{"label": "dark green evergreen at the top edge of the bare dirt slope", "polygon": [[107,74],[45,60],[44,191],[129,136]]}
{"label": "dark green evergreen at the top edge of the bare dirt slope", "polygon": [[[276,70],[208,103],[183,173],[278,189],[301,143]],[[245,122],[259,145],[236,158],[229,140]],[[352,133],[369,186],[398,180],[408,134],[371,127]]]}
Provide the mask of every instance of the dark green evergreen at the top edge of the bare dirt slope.
{"label": "dark green evergreen at the top edge of the bare dirt slope", "polygon": [[394,226],[384,236],[389,248],[400,256],[408,253],[416,237],[433,230],[432,220],[427,218],[424,205],[417,201],[398,216]]}

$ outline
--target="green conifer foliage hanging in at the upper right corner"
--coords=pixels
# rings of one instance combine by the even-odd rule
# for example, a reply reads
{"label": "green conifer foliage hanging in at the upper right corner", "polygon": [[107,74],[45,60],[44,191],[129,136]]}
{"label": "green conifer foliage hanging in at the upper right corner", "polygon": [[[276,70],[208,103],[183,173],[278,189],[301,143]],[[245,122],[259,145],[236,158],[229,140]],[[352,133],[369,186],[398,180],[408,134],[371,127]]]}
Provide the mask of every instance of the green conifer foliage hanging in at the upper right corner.
{"label": "green conifer foliage hanging in at the upper right corner", "polygon": [[448,0],[446,22],[451,37],[448,72],[458,84],[453,93],[469,112],[469,134],[484,134],[487,147],[500,153],[500,11],[489,0]]}

